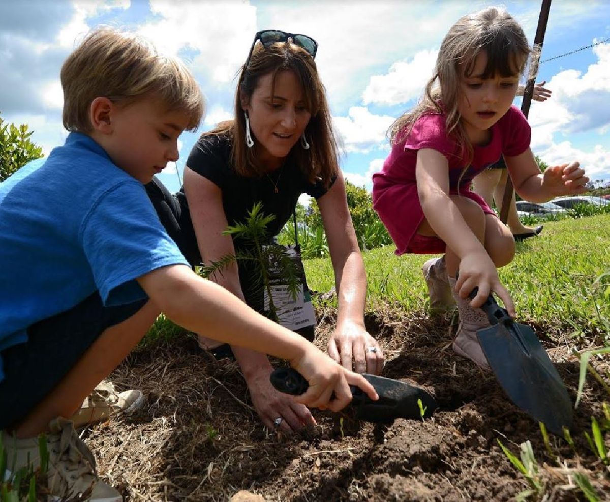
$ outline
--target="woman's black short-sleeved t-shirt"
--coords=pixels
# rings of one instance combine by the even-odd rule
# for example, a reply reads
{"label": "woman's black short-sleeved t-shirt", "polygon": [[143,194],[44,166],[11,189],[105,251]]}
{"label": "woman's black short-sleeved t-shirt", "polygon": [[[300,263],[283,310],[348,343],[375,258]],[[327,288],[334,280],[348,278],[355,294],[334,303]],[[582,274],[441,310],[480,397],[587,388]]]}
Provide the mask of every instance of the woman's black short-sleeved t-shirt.
{"label": "woman's black short-sleeved t-shirt", "polygon": [[[245,221],[248,211],[251,211],[255,203],[261,202],[265,214],[275,215],[275,219],[267,225],[268,237],[271,238],[278,235],[292,216],[301,194],[314,198],[326,194],[327,189],[321,180],[310,183],[298,166],[290,161],[290,157],[280,169],[268,176],[254,178],[235,172],[230,157],[231,140],[226,136],[211,134],[199,138],[187,160],[190,169],[221,189],[224,214],[229,225]],[[177,195],[182,208],[187,208],[184,188]]]}

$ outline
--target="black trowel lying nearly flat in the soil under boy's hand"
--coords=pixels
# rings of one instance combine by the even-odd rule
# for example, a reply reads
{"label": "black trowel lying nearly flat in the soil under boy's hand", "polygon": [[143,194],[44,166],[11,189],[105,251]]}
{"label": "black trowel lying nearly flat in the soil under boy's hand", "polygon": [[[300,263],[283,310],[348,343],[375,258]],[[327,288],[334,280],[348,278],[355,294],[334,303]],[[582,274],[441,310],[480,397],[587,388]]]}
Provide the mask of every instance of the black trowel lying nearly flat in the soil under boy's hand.
{"label": "black trowel lying nearly flat in the soil under boy's hand", "polygon": [[[371,401],[360,388],[350,385],[350,407],[356,411],[358,420],[375,423],[392,423],[395,418],[421,420],[431,417],[438,406],[436,399],[415,385],[367,373],[362,376],[375,387],[379,399]],[[307,380],[292,368],[274,369],[270,380],[277,390],[293,396],[303,394],[309,387]]]}

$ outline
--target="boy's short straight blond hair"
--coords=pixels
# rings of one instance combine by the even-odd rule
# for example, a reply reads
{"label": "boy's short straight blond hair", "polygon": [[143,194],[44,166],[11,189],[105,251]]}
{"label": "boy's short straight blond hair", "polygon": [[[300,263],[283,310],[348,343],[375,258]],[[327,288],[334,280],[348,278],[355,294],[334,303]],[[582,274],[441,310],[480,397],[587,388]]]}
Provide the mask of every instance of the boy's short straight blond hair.
{"label": "boy's short straight blond hair", "polygon": [[109,27],[91,32],[62,66],[63,126],[90,133],[89,107],[102,96],[121,105],[155,98],[188,116],[187,130],[199,126],[204,99],[190,71],[178,59],[162,56],[134,34]]}

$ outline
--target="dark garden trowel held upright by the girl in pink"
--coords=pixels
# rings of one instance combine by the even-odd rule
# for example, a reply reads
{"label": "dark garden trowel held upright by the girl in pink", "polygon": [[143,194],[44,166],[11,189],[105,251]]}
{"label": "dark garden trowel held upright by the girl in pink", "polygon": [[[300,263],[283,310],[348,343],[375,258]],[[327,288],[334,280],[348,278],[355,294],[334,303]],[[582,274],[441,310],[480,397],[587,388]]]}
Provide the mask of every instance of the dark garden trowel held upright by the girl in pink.
{"label": "dark garden trowel held upright by the girl in pink", "polygon": [[[477,291],[471,291],[471,299]],[[532,329],[513,321],[491,294],[481,308],[492,326],[476,336],[498,382],[512,402],[563,437],[563,427],[572,425],[572,402],[547,351]]]}

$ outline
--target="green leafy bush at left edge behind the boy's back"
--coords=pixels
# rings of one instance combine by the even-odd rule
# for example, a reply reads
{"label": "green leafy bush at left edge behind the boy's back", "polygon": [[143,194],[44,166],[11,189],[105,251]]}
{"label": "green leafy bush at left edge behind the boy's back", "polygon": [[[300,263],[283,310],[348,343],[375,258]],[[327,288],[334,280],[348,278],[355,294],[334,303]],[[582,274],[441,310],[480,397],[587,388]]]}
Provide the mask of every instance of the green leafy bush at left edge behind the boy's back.
{"label": "green leafy bush at left edge behind the boy's back", "polygon": [[28,131],[27,125],[19,127],[5,123],[0,117],[0,181],[25,166],[27,162],[40,159],[42,148],[30,141],[34,131]]}

